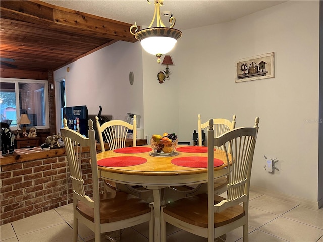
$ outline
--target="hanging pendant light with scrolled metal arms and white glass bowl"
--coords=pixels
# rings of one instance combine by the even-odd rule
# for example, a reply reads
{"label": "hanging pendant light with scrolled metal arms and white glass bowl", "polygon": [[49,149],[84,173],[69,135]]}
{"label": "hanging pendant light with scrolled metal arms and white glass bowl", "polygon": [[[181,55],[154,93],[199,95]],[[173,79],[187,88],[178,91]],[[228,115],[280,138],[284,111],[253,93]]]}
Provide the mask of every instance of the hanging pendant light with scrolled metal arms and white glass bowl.
{"label": "hanging pendant light with scrolled metal arms and white glass bowl", "polygon": [[[147,1],[150,4],[149,0]],[[150,54],[156,55],[156,57],[158,58],[157,62],[160,63],[160,57],[173,49],[177,40],[182,36],[182,32],[177,29],[173,29],[175,25],[175,18],[173,17],[173,15],[169,20],[171,26],[168,28],[164,25],[163,21],[160,18],[160,6],[163,5],[163,0],[154,1],[155,13],[149,27],[147,29],[142,29],[136,33],[138,26],[135,23],[130,27],[130,33],[140,41],[140,44],[144,50],[146,50]],[[156,17],[157,27],[151,28]],[[133,28],[136,28],[135,33],[132,32]]]}

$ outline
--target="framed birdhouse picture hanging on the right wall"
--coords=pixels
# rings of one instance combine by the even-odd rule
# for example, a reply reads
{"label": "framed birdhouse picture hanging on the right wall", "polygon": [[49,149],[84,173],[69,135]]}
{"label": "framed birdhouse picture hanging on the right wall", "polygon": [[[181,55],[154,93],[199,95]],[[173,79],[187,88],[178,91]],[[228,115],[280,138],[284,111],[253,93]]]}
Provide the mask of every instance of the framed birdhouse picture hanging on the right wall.
{"label": "framed birdhouse picture hanging on the right wall", "polygon": [[273,78],[274,52],[240,59],[235,62],[236,82]]}

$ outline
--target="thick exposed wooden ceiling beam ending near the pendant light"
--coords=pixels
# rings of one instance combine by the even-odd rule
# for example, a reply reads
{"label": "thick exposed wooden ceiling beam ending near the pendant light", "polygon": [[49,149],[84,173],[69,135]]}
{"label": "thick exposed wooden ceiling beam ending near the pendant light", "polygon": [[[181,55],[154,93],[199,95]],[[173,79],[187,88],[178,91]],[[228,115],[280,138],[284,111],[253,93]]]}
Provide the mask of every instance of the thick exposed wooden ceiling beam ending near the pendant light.
{"label": "thick exposed wooden ceiling beam ending near the pendant light", "polygon": [[41,1],[0,1],[1,17],[14,19],[65,32],[136,42],[131,24],[53,6]]}

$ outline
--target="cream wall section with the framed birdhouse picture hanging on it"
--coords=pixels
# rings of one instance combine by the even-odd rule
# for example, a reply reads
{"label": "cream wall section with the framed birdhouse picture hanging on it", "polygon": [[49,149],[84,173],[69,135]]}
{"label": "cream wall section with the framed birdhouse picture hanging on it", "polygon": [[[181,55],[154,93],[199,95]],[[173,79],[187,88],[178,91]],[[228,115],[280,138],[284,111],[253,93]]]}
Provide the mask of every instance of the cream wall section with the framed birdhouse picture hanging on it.
{"label": "cream wall section with the framed birdhouse picture hanging on it", "polygon": [[[192,140],[199,113],[202,121],[236,114],[238,127],[259,116],[251,185],[317,201],[319,2],[289,1],[183,31],[180,41],[172,55],[180,139]],[[275,78],[235,83],[235,61],[268,52]],[[264,155],[279,160],[275,175]]]}

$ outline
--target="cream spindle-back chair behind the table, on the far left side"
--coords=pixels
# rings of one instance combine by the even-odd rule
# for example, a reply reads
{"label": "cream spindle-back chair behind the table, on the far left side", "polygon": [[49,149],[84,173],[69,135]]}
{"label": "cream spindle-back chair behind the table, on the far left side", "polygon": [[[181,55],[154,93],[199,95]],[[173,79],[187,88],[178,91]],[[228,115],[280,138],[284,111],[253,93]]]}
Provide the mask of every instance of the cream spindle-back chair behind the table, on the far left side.
{"label": "cream spindle-back chair behind the table, on the far left side", "polygon": [[[104,140],[109,145],[110,150],[125,148],[127,133],[129,130],[133,130],[133,142],[132,146],[136,146],[136,133],[137,133],[137,117],[134,115],[133,124],[129,124],[123,120],[111,120],[100,125],[99,119],[95,117],[95,123],[97,133],[100,140],[101,151],[105,151]],[[121,190],[127,193],[131,193],[145,201],[152,202],[153,194],[151,190],[145,189],[142,186],[130,186],[126,184],[116,184],[110,180],[104,180],[105,190],[114,191]]]}

